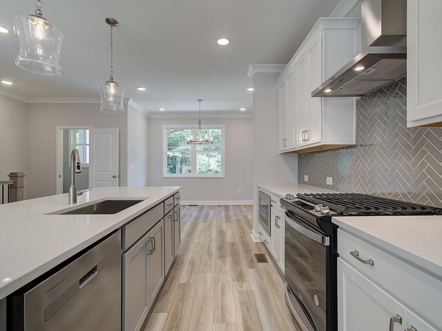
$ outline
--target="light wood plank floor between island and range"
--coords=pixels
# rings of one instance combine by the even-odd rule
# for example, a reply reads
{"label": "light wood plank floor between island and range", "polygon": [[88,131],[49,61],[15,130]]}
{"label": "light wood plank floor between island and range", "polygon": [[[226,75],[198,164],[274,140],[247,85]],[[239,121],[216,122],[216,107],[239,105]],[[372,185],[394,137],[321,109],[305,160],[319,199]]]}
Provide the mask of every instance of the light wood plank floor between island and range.
{"label": "light wood plank floor between island and range", "polygon": [[251,239],[252,208],[182,206],[181,247],[145,331],[298,331],[270,253]]}

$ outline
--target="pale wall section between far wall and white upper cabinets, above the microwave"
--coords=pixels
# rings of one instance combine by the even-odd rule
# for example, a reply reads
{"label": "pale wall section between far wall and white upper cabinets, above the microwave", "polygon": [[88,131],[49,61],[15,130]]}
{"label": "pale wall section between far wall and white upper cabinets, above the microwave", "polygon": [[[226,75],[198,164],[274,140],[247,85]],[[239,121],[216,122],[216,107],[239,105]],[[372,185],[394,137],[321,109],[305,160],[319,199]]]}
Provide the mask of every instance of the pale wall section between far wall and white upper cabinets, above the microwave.
{"label": "pale wall section between far wall and white upper cabinets, above the microwave", "polygon": [[253,231],[258,234],[258,183],[298,182],[298,155],[279,154],[279,74],[253,76]]}

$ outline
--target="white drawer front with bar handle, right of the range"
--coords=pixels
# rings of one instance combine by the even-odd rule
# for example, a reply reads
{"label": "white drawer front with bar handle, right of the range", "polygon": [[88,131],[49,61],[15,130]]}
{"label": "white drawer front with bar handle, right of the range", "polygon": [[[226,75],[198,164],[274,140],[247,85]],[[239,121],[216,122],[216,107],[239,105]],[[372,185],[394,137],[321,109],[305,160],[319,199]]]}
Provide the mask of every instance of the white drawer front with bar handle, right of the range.
{"label": "white drawer front with bar handle, right of the range", "polygon": [[442,281],[342,229],[338,229],[338,253],[341,259],[442,328]]}

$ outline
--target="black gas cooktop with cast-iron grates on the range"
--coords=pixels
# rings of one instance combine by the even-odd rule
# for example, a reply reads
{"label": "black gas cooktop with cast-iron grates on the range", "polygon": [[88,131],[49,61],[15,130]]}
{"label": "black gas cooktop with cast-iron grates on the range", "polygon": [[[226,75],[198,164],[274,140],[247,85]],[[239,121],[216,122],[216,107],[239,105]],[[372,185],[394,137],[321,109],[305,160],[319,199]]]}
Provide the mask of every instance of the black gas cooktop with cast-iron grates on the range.
{"label": "black gas cooktop with cast-iron grates on the range", "polygon": [[[327,205],[341,215],[435,215],[442,214],[441,208],[418,205],[361,193],[317,193],[297,194],[299,201],[313,205]],[[305,203],[307,205],[307,203]],[[301,206],[302,207],[302,206]],[[311,208],[311,206],[309,206]],[[309,208],[309,209],[310,209]],[[307,208],[306,208],[307,209]]]}

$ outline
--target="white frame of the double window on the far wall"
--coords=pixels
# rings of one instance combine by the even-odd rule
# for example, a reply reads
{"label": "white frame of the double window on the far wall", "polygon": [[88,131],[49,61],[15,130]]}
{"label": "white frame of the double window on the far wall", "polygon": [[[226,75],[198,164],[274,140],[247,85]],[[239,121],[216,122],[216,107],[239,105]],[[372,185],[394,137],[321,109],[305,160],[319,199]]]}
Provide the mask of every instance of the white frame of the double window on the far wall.
{"label": "white frame of the double window on the far wall", "polygon": [[226,150],[226,144],[225,144],[225,125],[224,124],[218,124],[218,125],[202,125],[201,128],[204,129],[220,129],[221,130],[221,172],[219,174],[197,174],[197,164],[196,164],[196,145],[191,145],[191,168],[192,173],[191,174],[168,174],[167,173],[167,130],[168,129],[176,129],[176,130],[182,130],[182,129],[191,129],[193,137],[195,137],[195,132],[197,129],[197,126],[191,126],[191,125],[164,125],[162,128],[163,131],[163,139],[162,139],[162,168],[163,168],[163,178],[224,178],[226,177],[226,158],[225,158],[225,150]]}

